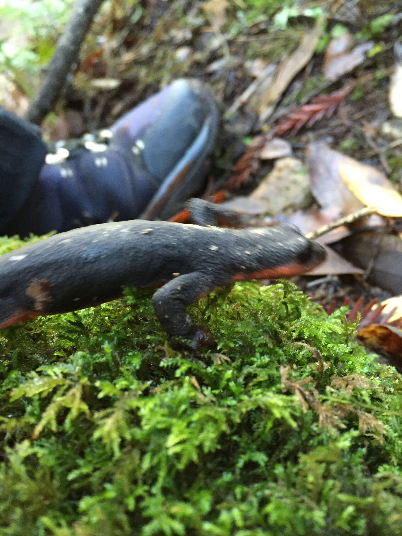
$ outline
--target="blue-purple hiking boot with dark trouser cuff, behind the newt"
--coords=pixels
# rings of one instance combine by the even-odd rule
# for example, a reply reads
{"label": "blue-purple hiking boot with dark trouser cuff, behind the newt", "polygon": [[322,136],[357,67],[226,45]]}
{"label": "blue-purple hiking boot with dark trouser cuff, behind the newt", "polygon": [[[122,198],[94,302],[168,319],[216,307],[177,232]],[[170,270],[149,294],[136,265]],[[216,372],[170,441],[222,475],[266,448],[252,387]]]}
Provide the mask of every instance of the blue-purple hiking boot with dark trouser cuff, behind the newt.
{"label": "blue-purple hiking boot with dark trouser cuff, behind the newt", "polygon": [[26,236],[168,219],[202,188],[218,122],[212,95],[195,80],[176,80],[109,131],[58,142],[56,153],[46,154],[34,125],[0,109],[0,150],[7,154],[3,165],[0,153],[0,229]]}

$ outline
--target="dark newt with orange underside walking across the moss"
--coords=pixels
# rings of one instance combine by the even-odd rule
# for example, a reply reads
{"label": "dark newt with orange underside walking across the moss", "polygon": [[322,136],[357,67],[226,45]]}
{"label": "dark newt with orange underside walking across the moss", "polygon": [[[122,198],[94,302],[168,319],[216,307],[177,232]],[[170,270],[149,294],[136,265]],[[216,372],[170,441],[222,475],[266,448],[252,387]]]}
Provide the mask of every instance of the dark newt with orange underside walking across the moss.
{"label": "dark newt with orange underside walking across the moss", "polygon": [[207,343],[187,314],[190,303],[227,282],[303,273],[324,258],[321,245],[288,224],[132,220],[74,229],[0,257],[0,328],[113,300],[123,286],[163,285],[152,300],[163,329]]}

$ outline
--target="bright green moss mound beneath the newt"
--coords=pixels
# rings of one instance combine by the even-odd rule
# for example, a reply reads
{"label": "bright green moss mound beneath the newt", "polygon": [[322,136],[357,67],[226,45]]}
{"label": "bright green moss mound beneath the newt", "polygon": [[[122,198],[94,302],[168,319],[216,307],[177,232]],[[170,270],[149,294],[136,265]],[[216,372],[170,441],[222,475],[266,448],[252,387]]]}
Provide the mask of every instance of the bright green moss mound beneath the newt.
{"label": "bright green moss mound beneath the newt", "polygon": [[402,382],[345,308],[236,284],[193,353],[151,294],[0,332],[0,535],[401,534]]}

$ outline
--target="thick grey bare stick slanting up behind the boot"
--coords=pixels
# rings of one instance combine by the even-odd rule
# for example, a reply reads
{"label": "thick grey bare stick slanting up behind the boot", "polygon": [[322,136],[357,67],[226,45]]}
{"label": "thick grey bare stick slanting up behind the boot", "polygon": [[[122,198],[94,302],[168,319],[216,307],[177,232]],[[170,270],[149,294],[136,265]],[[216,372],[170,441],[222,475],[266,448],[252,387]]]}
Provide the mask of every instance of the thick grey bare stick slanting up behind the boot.
{"label": "thick grey bare stick slanting up behind the boot", "polygon": [[27,121],[39,125],[49,111],[53,110],[71,66],[77,59],[81,43],[102,2],[103,0],[77,0],[71,19],[57,42],[42,87],[25,115]]}

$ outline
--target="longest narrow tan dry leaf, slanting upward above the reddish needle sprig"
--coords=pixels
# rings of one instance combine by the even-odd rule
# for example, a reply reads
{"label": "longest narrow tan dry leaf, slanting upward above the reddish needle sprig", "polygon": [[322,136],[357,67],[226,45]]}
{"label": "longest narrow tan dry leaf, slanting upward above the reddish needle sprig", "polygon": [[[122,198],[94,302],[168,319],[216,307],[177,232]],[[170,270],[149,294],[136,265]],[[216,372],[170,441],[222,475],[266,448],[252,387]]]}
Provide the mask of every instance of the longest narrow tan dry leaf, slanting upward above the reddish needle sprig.
{"label": "longest narrow tan dry leaf, slanting upward above the reddish needle sprig", "polygon": [[314,28],[302,39],[299,47],[291,56],[279,65],[276,76],[269,91],[263,96],[259,107],[260,121],[266,121],[272,113],[272,105],[286,90],[289,83],[303,67],[305,67],[315,53],[318,40],[323,31],[324,17],[316,20]]}

